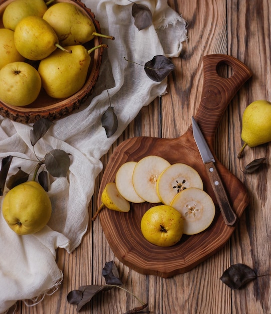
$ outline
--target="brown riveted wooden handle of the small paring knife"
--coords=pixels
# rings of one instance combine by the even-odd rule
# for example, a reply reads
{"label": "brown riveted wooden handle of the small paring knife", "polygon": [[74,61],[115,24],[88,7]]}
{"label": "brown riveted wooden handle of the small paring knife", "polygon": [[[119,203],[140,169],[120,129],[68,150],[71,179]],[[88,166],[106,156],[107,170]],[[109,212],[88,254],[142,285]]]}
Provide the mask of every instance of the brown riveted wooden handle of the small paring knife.
{"label": "brown riveted wooden handle of the small paring knife", "polygon": [[229,203],[226,191],[214,163],[210,162],[205,164],[205,169],[210,179],[211,186],[213,188],[213,192],[215,194],[225,224],[233,226],[236,222],[237,216],[235,215]]}

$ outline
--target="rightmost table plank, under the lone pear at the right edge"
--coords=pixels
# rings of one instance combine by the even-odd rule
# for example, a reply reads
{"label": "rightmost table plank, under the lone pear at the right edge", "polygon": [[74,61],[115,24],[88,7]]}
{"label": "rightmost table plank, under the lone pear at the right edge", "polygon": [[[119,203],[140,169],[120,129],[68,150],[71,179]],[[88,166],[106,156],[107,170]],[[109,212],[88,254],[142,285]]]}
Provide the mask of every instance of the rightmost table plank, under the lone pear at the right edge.
{"label": "rightmost table plank, under the lone pear at the right edge", "polygon": [[[270,101],[270,2],[267,0],[252,2],[228,1],[228,47],[233,54],[243,59],[253,72],[238,99],[235,99],[230,111],[229,123],[230,147],[234,153],[230,156],[233,172],[238,174],[246,185],[250,195],[250,206],[232,237],[232,263],[244,263],[257,274],[270,274],[270,171],[266,166],[261,171],[243,174],[244,166],[256,158],[266,157],[270,162],[270,144],[255,148],[246,147],[244,157],[236,159],[241,146],[241,118],[245,107],[254,100]],[[235,108],[239,105],[239,110]],[[232,313],[269,313],[270,281],[269,276],[260,277],[247,284],[245,289],[232,293]]]}

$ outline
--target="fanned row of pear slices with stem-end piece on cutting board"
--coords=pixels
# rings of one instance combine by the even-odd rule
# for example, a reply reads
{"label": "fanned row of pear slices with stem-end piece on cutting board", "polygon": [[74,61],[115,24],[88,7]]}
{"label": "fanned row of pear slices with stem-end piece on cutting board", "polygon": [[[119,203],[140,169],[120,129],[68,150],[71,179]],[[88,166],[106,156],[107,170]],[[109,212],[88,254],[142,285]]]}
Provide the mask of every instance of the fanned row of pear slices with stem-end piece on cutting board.
{"label": "fanned row of pear slices with stem-end piece on cutting board", "polygon": [[[139,162],[127,162],[108,183],[101,196],[102,206],[129,212],[131,203],[162,203],[175,208],[183,218],[183,233],[197,234],[207,229],[215,215],[211,197],[192,167],[149,155]],[[96,212],[97,217],[99,210]]]}

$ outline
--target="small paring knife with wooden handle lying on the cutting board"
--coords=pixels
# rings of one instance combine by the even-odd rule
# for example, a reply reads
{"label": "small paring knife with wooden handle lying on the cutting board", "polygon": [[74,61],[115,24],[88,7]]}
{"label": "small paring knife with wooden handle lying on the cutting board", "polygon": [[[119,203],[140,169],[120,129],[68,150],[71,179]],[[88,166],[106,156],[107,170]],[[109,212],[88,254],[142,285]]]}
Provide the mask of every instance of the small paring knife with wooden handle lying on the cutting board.
{"label": "small paring knife with wooden handle lying on the cutting board", "polygon": [[203,164],[205,165],[205,169],[210,179],[211,186],[213,188],[213,192],[219,205],[222,217],[226,225],[233,226],[236,222],[237,216],[235,215],[228,201],[226,191],[216,170],[215,160],[211,150],[194,117],[192,117],[192,129],[195,142],[197,144]]}

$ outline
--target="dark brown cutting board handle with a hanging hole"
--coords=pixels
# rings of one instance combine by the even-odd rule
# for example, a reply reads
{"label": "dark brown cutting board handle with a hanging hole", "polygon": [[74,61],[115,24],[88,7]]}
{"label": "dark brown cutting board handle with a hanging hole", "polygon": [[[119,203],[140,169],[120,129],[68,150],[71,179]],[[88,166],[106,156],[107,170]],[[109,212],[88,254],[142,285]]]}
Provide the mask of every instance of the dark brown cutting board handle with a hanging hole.
{"label": "dark brown cutting board handle with a hanging hole", "polygon": [[[228,78],[217,73],[223,64],[233,72]],[[251,75],[248,67],[234,57],[222,54],[203,57],[203,88],[195,119],[208,142],[213,140],[229,102]]]}

